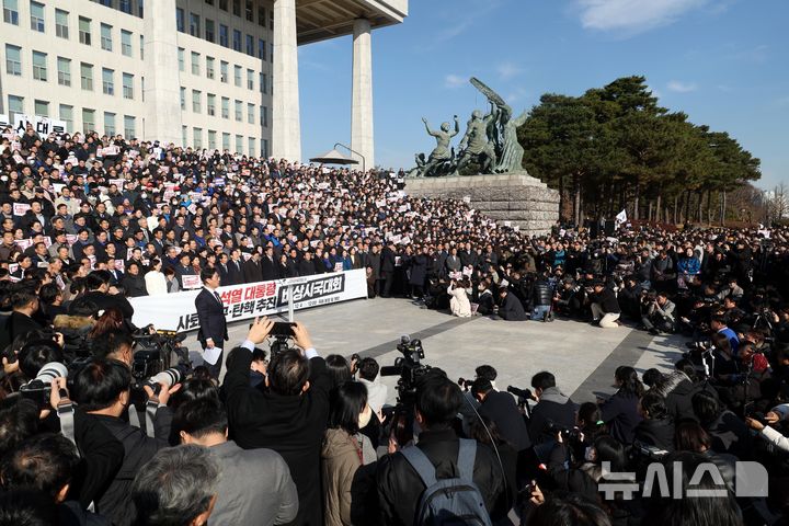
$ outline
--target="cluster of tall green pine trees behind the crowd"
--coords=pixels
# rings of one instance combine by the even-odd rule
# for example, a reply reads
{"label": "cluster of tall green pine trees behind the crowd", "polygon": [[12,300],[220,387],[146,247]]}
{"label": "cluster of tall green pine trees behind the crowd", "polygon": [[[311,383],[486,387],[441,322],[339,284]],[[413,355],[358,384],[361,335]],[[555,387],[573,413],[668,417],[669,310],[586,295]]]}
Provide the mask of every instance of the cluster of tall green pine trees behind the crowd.
{"label": "cluster of tall green pine trees behind the crowd", "polygon": [[621,209],[675,224],[759,219],[728,203],[734,193],[758,206],[748,182],[759,179],[759,160],[728,133],[661,107],[644,77],[581,96],[544,94],[518,140],[524,168],[560,191],[562,218],[576,225]]}

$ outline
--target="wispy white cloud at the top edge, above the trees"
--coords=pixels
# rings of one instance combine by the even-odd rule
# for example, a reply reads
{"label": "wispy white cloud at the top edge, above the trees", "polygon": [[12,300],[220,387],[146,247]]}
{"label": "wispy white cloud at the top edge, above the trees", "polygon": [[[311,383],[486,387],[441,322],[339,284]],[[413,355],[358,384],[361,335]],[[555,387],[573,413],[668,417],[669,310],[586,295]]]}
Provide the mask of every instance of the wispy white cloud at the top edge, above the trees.
{"label": "wispy white cloud at the top edge, above the trees", "polygon": [[642,33],[675,22],[709,0],[576,0],[586,30]]}

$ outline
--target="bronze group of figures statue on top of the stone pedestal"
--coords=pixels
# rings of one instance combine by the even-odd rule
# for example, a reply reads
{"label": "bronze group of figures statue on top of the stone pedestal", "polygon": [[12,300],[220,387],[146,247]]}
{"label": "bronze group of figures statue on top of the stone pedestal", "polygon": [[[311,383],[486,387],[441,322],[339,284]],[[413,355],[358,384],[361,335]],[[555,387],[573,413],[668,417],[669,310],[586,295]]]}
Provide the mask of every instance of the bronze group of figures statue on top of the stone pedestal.
{"label": "bronze group of figures statue on top of the stone pedestal", "polygon": [[423,117],[422,122],[427,133],[436,138],[436,147],[426,161],[424,153],[416,156],[419,159],[416,168],[409,172],[409,176],[458,175],[472,162],[479,163],[480,174],[526,173],[522,165],[524,149],[517,140],[517,128],[526,122],[528,112],[513,117],[512,107],[499,93],[474,77],[470,82],[488,99],[490,113],[484,116],[479,110],[471,113],[466,134],[458,145],[459,153],[456,161],[450,144],[451,138],[459,132],[457,116],[455,116],[455,133],[450,133],[449,123],[442,124],[439,130],[431,130],[427,119]]}

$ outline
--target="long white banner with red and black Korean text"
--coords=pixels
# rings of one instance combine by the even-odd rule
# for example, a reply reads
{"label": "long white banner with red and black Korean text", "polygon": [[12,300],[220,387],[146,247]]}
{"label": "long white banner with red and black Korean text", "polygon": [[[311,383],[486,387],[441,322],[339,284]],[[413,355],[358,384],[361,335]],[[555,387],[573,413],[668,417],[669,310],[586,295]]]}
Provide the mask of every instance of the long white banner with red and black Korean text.
{"label": "long white banner with red and black Korean text", "polygon": [[[197,290],[185,290],[158,296],[129,298],[135,309],[132,321],[137,327],[153,323],[168,331],[194,331],[199,329],[194,300]],[[363,268],[345,272],[291,277],[275,282],[230,285],[217,289],[225,304],[228,323],[258,316],[287,312],[290,297],[294,310],[338,304],[367,297],[367,277]]]}

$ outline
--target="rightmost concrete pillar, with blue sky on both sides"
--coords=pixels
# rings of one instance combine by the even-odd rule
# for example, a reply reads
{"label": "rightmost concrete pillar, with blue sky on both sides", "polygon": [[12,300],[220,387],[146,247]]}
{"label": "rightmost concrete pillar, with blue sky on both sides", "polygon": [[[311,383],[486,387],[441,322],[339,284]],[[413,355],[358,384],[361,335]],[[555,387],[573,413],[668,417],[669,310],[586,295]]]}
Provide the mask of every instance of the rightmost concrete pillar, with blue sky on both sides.
{"label": "rightmost concrete pillar, with blue sky on both sides", "polygon": [[[354,20],[353,87],[351,101],[351,148],[364,156],[365,168],[375,167],[373,140],[373,48],[370,23]],[[359,162],[356,153],[352,157]]]}

